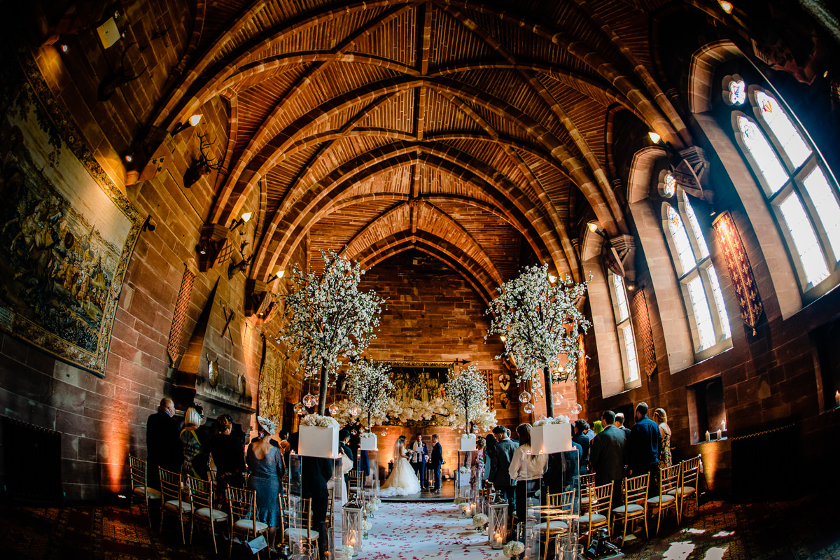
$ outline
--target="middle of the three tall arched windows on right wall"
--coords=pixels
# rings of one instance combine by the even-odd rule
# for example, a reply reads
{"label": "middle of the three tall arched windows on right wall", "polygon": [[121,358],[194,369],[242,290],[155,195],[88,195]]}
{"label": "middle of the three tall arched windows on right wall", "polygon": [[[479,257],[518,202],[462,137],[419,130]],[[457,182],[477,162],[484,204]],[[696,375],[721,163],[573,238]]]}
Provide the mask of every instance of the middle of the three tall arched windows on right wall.
{"label": "middle of the three tall arched windows on right wall", "polygon": [[732,332],[717,271],[694,207],[674,175],[664,174],[659,193],[664,199],[665,237],[680,280],[695,353],[706,357],[731,346]]}

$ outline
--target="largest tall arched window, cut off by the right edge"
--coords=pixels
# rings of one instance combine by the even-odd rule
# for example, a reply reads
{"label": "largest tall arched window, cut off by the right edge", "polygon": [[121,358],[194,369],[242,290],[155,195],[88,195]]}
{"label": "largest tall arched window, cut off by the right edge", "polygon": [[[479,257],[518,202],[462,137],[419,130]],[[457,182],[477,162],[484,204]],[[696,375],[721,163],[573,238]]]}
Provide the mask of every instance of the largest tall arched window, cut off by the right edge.
{"label": "largest tall arched window, cut off by the right edge", "polygon": [[837,181],[774,94],[739,76],[730,76],[725,83],[738,144],[779,222],[800,288],[804,294],[820,296],[837,284]]}

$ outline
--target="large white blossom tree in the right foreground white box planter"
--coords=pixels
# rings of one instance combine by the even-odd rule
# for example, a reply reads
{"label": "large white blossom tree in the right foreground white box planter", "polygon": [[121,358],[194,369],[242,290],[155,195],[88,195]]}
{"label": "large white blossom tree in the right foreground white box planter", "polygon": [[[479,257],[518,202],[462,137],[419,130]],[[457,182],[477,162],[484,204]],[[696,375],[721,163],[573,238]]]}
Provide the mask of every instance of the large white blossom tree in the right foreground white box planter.
{"label": "large white blossom tree in the right foreground white box planter", "polygon": [[577,362],[579,334],[591,327],[577,306],[587,284],[575,284],[569,276],[552,280],[548,264],[526,267],[517,278],[496,288],[501,296],[486,311],[493,316],[487,337],[499,334],[505,342],[504,353],[496,359],[511,356],[517,365],[517,382],[533,381],[538,394],[543,394],[545,386],[548,416],[554,416],[551,372],[564,369],[564,358],[565,364]]}

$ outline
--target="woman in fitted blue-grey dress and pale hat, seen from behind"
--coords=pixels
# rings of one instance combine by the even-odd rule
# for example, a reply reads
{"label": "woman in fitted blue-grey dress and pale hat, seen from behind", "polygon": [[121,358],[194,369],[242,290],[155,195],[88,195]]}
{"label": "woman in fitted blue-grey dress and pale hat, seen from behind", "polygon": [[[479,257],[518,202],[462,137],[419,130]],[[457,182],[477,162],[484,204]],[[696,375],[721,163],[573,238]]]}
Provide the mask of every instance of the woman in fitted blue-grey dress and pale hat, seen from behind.
{"label": "woman in fitted blue-grey dress and pale hat, seen from behind", "polygon": [[[248,446],[248,468],[251,473],[248,485],[250,489],[256,490],[256,521],[268,526],[268,546],[269,550],[273,551],[277,526],[281,522],[277,495],[280,493],[280,479],[283,476],[283,454],[280,449],[271,445],[271,436],[275,431],[274,422],[257,416],[257,425],[257,437]],[[303,479],[307,477],[304,476]]]}

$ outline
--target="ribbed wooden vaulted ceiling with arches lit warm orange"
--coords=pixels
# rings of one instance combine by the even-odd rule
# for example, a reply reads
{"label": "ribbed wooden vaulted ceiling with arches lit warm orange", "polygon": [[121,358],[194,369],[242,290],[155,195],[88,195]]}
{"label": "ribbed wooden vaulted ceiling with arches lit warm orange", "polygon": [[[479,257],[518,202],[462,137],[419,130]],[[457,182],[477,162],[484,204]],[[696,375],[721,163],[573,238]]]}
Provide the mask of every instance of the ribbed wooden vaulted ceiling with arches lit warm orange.
{"label": "ribbed wooden vaulted ceiling with arches lit warm orange", "polygon": [[257,280],[304,242],[313,265],[317,249],[365,267],[419,249],[484,297],[522,243],[580,278],[574,189],[607,235],[626,233],[610,115],[690,144],[649,56],[661,3],[201,1],[180,95],[155,124],[227,100],[210,222],[259,191]]}

